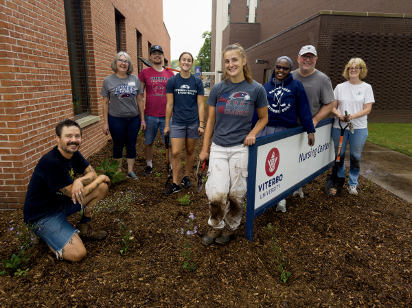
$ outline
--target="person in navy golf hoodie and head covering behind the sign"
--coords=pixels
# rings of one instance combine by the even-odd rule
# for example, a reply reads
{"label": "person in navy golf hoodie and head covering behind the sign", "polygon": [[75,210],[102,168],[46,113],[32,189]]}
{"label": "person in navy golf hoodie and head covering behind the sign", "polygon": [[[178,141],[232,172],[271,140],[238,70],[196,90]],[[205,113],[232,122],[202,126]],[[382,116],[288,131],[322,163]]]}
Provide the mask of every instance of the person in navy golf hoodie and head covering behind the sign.
{"label": "person in navy golf hoodie and head covering behind the sign", "polygon": [[[295,128],[298,125],[299,117],[306,132],[308,132],[308,145],[314,145],[314,126],[312,113],[305,88],[301,82],[293,79],[290,73],[293,69],[293,62],[284,56],[277,59],[271,81],[264,84],[267,99],[269,102],[268,124],[259,132],[256,137],[282,132],[288,128]],[[252,119],[252,128],[258,121],[255,113]],[[276,211],[286,212],[286,200],[281,200],[276,206]]]}

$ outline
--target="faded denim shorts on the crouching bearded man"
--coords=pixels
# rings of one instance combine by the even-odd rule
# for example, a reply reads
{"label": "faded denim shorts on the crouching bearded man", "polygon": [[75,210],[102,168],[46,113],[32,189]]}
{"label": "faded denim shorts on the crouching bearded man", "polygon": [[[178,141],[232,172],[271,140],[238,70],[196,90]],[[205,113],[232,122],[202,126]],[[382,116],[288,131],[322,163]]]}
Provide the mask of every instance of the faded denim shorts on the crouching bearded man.
{"label": "faded denim shorts on the crouching bearded man", "polygon": [[73,204],[69,200],[66,204],[60,206],[60,209],[56,212],[33,222],[33,226],[36,226],[33,233],[56,251],[57,258],[62,258],[62,249],[65,248],[69,239],[79,232],[71,226],[66,217],[77,213],[81,209],[80,203]]}

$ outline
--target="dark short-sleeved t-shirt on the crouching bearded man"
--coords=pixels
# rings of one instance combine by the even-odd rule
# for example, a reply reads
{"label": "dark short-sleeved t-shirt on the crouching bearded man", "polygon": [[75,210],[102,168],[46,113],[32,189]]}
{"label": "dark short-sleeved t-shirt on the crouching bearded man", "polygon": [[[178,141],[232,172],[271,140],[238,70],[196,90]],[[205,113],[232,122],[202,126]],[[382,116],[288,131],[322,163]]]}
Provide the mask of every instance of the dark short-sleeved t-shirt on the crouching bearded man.
{"label": "dark short-sleeved t-shirt on the crouching bearded man", "polygon": [[73,184],[75,176],[84,174],[89,165],[80,152],[67,159],[57,147],[40,158],[27,188],[23,209],[25,222],[37,222],[71,202],[59,189]]}

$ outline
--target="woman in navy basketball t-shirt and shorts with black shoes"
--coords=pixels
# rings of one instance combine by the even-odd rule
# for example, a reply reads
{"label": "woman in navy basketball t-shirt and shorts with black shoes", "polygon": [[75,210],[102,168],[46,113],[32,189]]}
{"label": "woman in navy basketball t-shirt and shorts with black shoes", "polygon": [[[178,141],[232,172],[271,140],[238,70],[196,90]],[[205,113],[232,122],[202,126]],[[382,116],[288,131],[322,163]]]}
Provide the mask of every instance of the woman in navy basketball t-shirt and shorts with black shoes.
{"label": "woman in navy basketball t-shirt and shorts with black shoes", "polygon": [[[205,132],[203,125],[205,106],[203,97],[205,88],[201,78],[190,73],[193,65],[193,56],[189,52],[183,52],[179,57],[180,73],[172,76],[166,86],[166,123],[164,134],[170,132],[172,141],[172,170],[173,182],[168,189],[163,191],[166,196],[172,196],[181,190],[179,184],[182,169],[181,154],[185,143],[185,176],[182,186],[192,187],[190,171],[194,161],[194,146],[196,140],[202,138]],[[170,117],[173,121],[169,128]]]}

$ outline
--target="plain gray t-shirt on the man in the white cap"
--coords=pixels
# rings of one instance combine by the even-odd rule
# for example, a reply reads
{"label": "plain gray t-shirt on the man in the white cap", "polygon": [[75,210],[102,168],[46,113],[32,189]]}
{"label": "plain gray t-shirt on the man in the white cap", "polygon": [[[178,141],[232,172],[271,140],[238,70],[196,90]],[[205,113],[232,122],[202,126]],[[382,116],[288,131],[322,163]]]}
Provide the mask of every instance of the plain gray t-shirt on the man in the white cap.
{"label": "plain gray t-shirt on the man in the white cap", "polygon": [[299,75],[299,70],[297,69],[292,72],[292,75],[294,80],[299,80],[304,85],[306,95],[308,95],[312,117],[317,115],[317,112],[321,110],[323,105],[334,102],[332,82],[330,82],[330,78],[321,71],[315,69],[308,77],[302,77]]}

